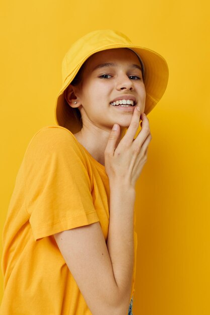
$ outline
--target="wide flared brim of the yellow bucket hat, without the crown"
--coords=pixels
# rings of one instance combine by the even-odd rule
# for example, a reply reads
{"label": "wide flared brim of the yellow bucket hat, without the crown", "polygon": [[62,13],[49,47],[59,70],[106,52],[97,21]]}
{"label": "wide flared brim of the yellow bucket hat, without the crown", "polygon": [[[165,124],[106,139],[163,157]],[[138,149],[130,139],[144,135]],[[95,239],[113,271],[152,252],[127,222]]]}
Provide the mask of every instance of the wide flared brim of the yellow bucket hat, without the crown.
{"label": "wide flared brim of the yellow bucket hat, without the crown", "polygon": [[130,48],[141,57],[144,63],[144,84],[146,90],[145,114],[148,115],[160,101],[166,90],[169,78],[167,62],[160,54],[151,49],[134,45],[115,44],[100,47],[83,58],[74,71],[69,73],[65,78],[62,89],[60,90],[55,103],[55,120],[58,125],[69,129],[73,133],[77,133],[81,130],[81,126],[75,118],[73,109],[71,106],[67,105],[64,99],[64,91],[74,80],[79,69],[90,56],[99,51],[114,48]]}

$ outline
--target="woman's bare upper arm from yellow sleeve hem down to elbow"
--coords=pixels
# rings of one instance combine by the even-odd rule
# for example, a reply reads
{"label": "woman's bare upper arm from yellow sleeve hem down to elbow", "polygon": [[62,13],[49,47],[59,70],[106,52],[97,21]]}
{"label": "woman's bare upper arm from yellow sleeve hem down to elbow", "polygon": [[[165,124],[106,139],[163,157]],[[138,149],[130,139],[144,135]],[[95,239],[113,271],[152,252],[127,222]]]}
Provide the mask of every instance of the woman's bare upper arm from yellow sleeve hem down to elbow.
{"label": "woman's bare upper arm from yellow sleeve hem down to elbow", "polygon": [[62,231],[54,238],[93,315],[125,315],[118,310],[120,292],[100,223]]}

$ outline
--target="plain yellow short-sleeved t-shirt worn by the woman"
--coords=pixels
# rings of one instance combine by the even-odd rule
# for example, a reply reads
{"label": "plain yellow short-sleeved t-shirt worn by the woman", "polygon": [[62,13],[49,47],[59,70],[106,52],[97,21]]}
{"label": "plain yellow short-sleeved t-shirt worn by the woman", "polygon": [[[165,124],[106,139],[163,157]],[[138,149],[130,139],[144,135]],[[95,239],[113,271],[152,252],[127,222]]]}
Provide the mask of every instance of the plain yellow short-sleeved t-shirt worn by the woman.
{"label": "plain yellow short-sleeved t-shirt worn by the woman", "polygon": [[[0,314],[91,315],[53,234],[97,221],[107,240],[105,167],[68,129],[41,128],[24,155],[3,231]],[[135,257],[136,247],[134,232]]]}

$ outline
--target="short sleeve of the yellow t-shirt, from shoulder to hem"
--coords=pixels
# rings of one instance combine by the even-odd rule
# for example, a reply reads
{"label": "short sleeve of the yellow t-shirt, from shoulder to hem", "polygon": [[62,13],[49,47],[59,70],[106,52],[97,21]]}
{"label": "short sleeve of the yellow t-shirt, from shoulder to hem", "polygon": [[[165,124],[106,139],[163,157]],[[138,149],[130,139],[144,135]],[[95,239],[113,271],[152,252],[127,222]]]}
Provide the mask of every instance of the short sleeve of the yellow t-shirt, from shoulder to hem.
{"label": "short sleeve of the yellow t-shirt, from shoulder to hem", "polygon": [[65,128],[42,128],[25,159],[26,210],[35,241],[98,222],[84,153]]}

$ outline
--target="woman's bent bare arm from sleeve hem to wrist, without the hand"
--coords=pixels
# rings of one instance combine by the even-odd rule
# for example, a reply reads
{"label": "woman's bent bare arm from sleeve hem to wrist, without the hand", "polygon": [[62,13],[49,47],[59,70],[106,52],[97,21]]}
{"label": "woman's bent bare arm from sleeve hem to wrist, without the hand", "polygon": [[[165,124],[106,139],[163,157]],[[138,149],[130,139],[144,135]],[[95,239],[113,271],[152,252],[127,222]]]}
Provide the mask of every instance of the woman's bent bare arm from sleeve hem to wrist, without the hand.
{"label": "woman's bent bare arm from sleeve hem to wrist, without the hand", "polygon": [[116,187],[110,196],[114,211],[107,246],[99,222],[54,235],[93,315],[127,314],[133,271],[134,191],[125,188],[126,193]]}

